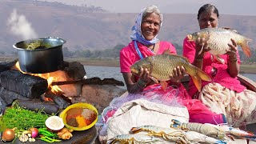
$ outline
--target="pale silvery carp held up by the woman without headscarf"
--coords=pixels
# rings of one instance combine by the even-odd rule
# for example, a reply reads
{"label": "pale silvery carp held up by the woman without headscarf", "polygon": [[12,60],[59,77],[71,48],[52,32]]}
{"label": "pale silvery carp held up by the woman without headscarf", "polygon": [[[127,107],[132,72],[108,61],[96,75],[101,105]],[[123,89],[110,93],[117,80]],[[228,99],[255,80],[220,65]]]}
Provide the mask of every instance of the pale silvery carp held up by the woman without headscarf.
{"label": "pale silvery carp held up by the woman without headscarf", "polygon": [[[228,44],[232,44],[231,38],[238,46],[242,47],[243,52],[247,57],[250,57],[250,46],[248,43],[252,41],[250,38],[238,34],[236,30],[231,30],[227,28],[205,28],[194,32],[193,34],[188,34],[186,36],[190,42],[196,41],[197,38],[206,38],[208,40],[208,47],[210,47],[210,54],[216,56],[215,58],[218,62],[224,63],[224,60],[220,58],[219,55],[226,54],[226,50],[230,50]],[[199,52],[199,54],[202,50]]]}

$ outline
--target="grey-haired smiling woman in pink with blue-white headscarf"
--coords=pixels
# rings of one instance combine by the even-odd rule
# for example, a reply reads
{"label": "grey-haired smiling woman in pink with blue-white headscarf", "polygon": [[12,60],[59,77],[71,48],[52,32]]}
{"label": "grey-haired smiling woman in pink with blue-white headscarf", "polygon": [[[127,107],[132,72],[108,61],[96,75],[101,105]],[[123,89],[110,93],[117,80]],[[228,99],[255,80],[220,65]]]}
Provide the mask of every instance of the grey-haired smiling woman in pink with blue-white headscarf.
{"label": "grey-haired smiling woman in pink with blue-white headscarf", "polygon": [[[146,98],[154,102],[162,102],[166,105],[178,102],[188,109],[190,122],[207,122],[213,124],[225,122],[226,118],[222,114],[214,114],[202,102],[192,99],[186,92],[185,87],[182,86],[180,81],[184,74],[186,74],[183,67],[176,67],[174,75],[167,82],[167,90],[162,90],[160,84],[154,83],[150,79],[149,70],[141,69],[138,75],[131,73],[130,66],[142,58],[154,54],[163,54],[166,50],[170,50],[172,54],[176,54],[173,44],[159,41],[156,38],[161,26],[162,14],[157,6],[149,6],[138,14],[138,18],[132,29],[134,34],[130,36],[132,42],[120,51],[121,72],[129,94],[125,98],[115,100],[114,103],[121,106],[122,103],[130,101],[135,97]],[[118,108],[118,106],[116,107]],[[114,114],[114,109],[106,112],[106,117],[110,117],[112,114]]]}

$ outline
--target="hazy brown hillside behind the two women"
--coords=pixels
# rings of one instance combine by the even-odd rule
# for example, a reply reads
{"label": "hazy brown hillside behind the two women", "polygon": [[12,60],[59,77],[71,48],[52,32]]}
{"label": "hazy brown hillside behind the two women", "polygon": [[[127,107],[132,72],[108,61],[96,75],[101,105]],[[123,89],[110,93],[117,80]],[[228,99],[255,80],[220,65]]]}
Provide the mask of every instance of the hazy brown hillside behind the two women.
{"label": "hazy brown hillside behind the two women", "polygon": [[[137,14],[106,13],[99,7],[69,6],[58,2],[32,0],[0,1],[0,55],[11,54],[15,42],[25,40],[12,34],[7,25],[13,10],[26,17],[38,38],[55,36],[66,39],[69,50],[105,50],[130,42],[131,27]],[[256,16],[221,15],[220,26],[256,38]],[[164,14],[158,38],[182,46],[186,34],[198,30],[196,14]],[[26,33],[26,30],[23,32]],[[250,43],[256,48],[255,41]]]}

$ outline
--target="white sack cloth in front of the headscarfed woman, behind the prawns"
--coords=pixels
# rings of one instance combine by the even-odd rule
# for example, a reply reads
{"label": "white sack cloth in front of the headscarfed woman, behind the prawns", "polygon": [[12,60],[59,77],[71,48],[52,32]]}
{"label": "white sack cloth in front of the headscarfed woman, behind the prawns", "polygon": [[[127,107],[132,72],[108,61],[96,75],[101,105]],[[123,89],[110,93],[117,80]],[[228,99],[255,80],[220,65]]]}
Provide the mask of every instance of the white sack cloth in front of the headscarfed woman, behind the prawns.
{"label": "white sack cloth in front of the headscarfed woman, behind the prawns", "polygon": [[108,120],[107,139],[129,134],[130,129],[136,126],[170,127],[171,119],[188,122],[188,110],[186,107],[166,106],[145,99],[126,102]]}

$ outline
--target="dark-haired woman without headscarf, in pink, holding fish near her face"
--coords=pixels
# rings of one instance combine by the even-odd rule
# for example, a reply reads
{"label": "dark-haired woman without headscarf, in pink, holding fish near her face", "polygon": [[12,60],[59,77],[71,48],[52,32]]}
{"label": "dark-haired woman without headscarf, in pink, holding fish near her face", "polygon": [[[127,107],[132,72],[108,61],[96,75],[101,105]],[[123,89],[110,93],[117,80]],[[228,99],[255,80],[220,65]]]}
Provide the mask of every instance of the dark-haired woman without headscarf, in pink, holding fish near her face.
{"label": "dark-haired woman without headscarf, in pink, holding fish near her face", "polygon": [[[206,4],[198,10],[200,29],[218,27],[218,9]],[[198,68],[209,74],[212,82],[202,81],[202,90],[198,92],[193,82],[189,84],[189,94],[198,98],[216,114],[224,114],[227,122],[234,127],[245,128],[246,124],[256,122],[255,92],[247,90],[238,81],[240,56],[237,43],[230,39],[230,50],[220,55],[224,63],[218,62],[208,51],[210,47],[203,38],[196,42],[183,42],[183,56]],[[203,49],[202,49],[203,46]],[[199,54],[199,51],[202,53]]]}

